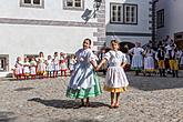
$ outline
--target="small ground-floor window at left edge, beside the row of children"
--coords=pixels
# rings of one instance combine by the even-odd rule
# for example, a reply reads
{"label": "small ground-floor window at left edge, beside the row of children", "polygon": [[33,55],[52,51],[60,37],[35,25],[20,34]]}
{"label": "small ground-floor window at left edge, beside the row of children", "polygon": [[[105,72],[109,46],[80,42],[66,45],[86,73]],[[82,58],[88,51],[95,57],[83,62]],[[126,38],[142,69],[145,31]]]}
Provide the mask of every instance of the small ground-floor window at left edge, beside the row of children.
{"label": "small ground-floor window at left edge, beside the row of children", "polygon": [[0,54],[0,71],[8,71],[8,54]]}

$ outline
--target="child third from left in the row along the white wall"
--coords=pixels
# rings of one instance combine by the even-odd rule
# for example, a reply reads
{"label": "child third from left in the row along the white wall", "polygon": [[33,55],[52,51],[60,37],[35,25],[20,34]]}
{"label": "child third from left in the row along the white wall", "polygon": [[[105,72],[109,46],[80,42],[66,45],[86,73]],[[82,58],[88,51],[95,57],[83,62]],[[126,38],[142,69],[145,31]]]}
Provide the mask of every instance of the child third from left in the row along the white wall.
{"label": "child third from left in the row along the white wall", "polygon": [[31,62],[30,62],[30,75],[31,75],[31,79],[35,79],[35,75],[37,75],[37,61],[35,61],[35,58],[32,58]]}

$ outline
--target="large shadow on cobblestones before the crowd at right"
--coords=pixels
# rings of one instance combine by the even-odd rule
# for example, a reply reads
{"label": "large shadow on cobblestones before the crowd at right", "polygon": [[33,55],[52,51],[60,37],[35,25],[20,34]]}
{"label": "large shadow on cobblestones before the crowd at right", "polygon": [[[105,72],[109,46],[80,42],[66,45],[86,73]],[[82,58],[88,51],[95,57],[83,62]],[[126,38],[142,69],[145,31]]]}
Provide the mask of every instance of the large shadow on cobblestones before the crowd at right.
{"label": "large shadow on cobblestones before the crowd at right", "polygon": [[183,88],[183,78],[160,78],[155,77],[134,77],[133,74],[128,75],[130,87],[136,88],[144,91],[164,90],[164,89],[179,89]]}

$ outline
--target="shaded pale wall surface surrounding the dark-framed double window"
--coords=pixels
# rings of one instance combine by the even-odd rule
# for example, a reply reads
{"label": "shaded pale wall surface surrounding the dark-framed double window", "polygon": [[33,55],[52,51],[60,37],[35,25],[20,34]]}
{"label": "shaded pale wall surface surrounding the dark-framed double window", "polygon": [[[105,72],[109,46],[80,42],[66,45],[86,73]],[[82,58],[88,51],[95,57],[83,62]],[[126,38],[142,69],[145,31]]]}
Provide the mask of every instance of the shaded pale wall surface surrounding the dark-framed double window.
{"label": "shaded pale wall surface surrounding the dark-framed double window", "polygon": [[[151,14],[151,11],[149,8],[151,8],[151,4],[149,2],[152,0],[106,0],[106,32],[130,32],[130,33],[152,33],[149,28],[151,24],[149,21],[151,21],[151,18],[149,18],[149,14]],[[110,2],[114,3],[133,3],[138,4],[138,24],[112,24],[110,23]],[[118,35],[115,35],[118,37]],[[151,37],[118,37],[121,39],[121,41],[125,40],[129,42],[135,42],[140,41],[142,44],[148,43],[149,40],[151,40]],[[110,39],[113,39],[112,35],[108,35],[106,41],[109,43]]]}

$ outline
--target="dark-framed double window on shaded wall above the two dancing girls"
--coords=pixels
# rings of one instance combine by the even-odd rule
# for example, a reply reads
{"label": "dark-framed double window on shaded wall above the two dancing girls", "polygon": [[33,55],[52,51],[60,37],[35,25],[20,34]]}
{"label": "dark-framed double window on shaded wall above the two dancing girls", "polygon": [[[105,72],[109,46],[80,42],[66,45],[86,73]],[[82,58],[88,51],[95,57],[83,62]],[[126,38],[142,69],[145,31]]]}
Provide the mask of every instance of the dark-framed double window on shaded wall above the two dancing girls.
{"label": "dark-framed double window on shaded wall above the two dancing girls", "polygon": [[136,24],[138,23],[138,6],[111,3],[111,23]]}

